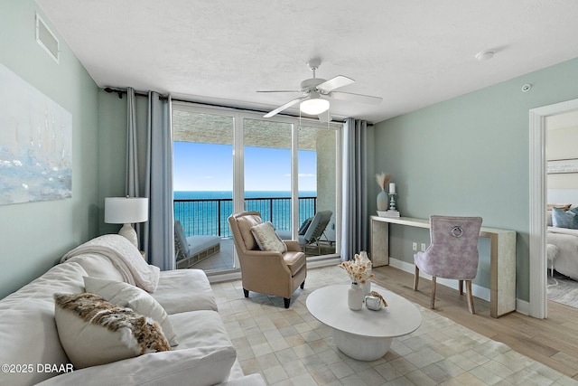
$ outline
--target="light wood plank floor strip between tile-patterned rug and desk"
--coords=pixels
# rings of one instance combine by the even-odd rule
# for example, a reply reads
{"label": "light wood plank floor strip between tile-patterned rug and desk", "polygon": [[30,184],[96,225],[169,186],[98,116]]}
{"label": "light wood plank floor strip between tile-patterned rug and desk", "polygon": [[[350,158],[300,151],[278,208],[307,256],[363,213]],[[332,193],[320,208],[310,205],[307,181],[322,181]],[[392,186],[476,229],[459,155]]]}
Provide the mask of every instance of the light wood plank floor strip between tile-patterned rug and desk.
{"label": "light wood plank floor strip between tile-patterned rug and desk", "polygon": [[[414,291],[414,275],[393,267],[373,268],[374,281],[398,295],[429,307],[431,281],[420,278]],[[548,318],[536,319],[516,312],[498,319],[489,316],[489,302],[474,297],[476,315],[468,310],[465,294],[437,286],[435,312],[454,322],[508,344],[537,362],[578,381],[578,308],[548,302]]]}

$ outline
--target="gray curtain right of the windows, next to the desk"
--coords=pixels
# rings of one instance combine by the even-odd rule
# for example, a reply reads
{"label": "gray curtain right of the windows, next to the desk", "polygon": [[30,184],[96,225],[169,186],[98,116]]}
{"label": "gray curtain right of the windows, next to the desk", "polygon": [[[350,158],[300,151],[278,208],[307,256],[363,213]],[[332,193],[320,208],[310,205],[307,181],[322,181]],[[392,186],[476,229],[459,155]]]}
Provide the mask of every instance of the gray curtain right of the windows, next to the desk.
{"label": "gray curtain right of the windows, next to the desk", "polygon": [[347,118],[343,125],[341,260],[368,250],[368,123]]}

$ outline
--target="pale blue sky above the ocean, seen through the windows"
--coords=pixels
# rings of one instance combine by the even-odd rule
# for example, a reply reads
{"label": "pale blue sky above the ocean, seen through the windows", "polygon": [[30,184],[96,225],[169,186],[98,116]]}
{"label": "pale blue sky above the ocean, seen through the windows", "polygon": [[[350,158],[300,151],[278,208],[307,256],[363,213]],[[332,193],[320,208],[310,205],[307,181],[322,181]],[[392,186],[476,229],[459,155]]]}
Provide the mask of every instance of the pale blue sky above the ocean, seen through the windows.
{"label": "pale blue sky above the ocean, seen through the windows", "polygon": [[[174,142],[173,190],[232,191],[233,146]],[[299,190],[316,191],[316,155],[299,151]],[[245,147],[246,191],[290,191],[289,149]]]}

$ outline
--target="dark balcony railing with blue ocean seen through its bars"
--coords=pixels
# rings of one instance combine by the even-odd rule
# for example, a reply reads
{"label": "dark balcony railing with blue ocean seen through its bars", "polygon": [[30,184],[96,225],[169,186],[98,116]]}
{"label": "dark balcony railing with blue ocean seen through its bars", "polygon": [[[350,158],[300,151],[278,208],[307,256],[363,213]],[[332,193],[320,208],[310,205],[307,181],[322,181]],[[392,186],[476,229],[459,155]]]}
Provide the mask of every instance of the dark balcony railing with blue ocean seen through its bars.
{"label": "dark balcony railing with blue ocean seen through its bars", "polygon": [[[231,237],[227,219],[233,213],[232,199],[175,199],[173,208],[174,219],[181,221],[185,236]],[[246,198],[245,210],[260,212],[261,219],[271,221],[276,230],[291,229],[289,197]],[[315,212],[317,197],[299,197],[299,224],[312,217]]]}

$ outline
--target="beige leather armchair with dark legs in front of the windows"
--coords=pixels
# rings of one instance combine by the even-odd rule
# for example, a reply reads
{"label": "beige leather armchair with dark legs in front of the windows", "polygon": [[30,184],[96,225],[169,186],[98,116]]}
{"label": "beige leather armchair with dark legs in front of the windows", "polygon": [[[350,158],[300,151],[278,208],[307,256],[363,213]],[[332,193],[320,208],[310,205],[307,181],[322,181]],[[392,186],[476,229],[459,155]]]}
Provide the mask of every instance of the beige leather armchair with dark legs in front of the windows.
{"label": "beige leather armchair with dark legs in front of the windows", "polygon": [[295,240],[279,240],[287,249],[283,253],[259,249],[251,227],[262,222],[259,212],[234,213],[228,217],[241,264],[243,292],[245,297],[249,291],[283,297],[285,308],[289,308],[295,289],[305,285],[305,255]]}

